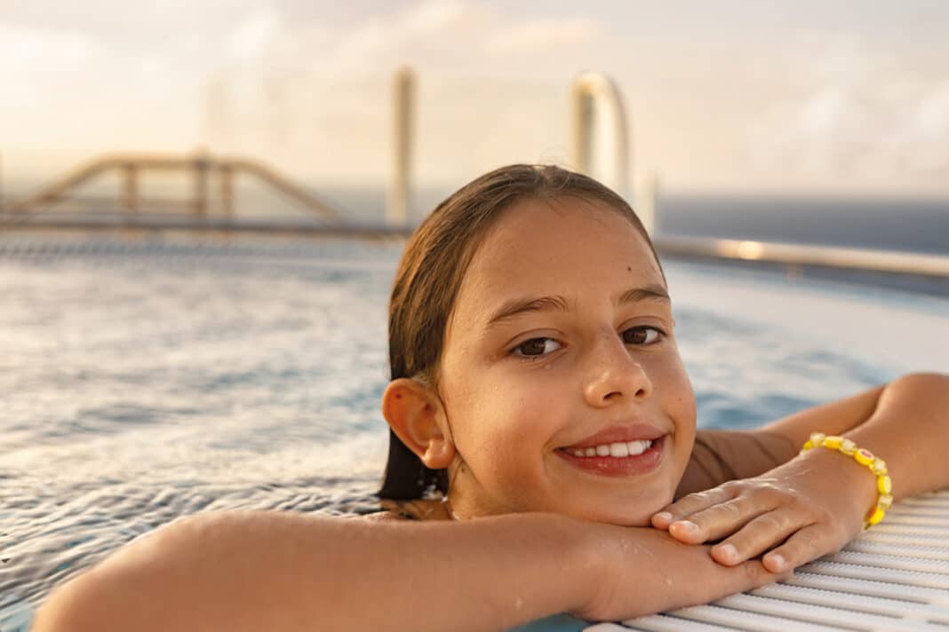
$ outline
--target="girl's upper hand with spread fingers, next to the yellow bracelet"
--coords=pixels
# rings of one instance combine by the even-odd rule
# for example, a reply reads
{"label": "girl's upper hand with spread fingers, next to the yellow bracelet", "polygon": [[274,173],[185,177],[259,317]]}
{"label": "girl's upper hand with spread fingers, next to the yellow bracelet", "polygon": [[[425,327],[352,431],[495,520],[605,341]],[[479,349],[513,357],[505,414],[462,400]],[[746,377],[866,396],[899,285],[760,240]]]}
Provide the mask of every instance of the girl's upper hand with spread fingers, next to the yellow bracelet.
{"label": "girl's upper hand with spread fingers, next to the yellow bracelet", "polygon": [[876,481],[865,467],[815,449],[760,477],[682,497],[652,524],[690,544],[725,538],[711,548],[724,566],[765,553],[766,569],[787,572],[839,551],[860,532],[875,499]]}

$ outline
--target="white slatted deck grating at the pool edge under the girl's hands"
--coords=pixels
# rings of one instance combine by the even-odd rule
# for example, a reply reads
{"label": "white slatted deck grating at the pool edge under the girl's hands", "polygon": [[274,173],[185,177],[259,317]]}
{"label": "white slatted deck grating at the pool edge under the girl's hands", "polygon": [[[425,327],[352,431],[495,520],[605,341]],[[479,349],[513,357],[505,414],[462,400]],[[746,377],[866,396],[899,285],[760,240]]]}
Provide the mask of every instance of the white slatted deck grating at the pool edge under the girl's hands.
{"label": "white slatted deck grating at the pool edge under the girl's hands", "polygon": [[949,632],[949,490],[909,498],[787,581],[585,632]]}

